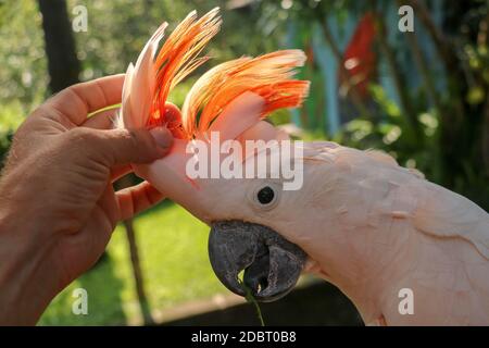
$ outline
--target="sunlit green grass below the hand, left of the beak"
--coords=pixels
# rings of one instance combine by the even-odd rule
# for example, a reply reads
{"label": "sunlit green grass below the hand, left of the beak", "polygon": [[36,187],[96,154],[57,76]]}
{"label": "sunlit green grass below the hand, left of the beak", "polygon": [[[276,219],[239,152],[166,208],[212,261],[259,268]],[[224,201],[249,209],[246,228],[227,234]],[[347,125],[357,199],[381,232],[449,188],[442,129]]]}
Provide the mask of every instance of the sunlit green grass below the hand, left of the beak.
{"label": "sunlit green grass below the hand, left of the beak", "polygon": [[[135,220],[152,310],[228,293],[208,259],[209,228],[181,208],[165,202]],[[75,288],[88,293],[88,315],[72,313]],[[125,231],[118,226],[108,258],[62,291],[39,325],[121,325],[140,318]]]}

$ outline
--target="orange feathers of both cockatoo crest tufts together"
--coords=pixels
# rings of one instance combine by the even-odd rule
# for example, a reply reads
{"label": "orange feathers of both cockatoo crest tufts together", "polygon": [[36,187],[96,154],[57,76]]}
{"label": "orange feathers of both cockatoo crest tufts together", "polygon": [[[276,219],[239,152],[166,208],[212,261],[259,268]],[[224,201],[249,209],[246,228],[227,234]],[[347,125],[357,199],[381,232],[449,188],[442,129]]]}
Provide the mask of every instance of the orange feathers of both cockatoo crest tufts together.
{"label": "orange feathers of both cockatoo crest tufts together", "polygon": [[293,79],[296,67],[305,61],[301,50],[243,57],[220,64],[202,75],[185,99],[181,121],[165,120],[170,90],[209,59],[198,55],[220,29],[217,13],[216,8],[197,20],[196,12],[191,12],[161,48],[154,65],[156,88],[148,126],[164,124],[176,137],[191,139],[209,129],[226,105],[243,92],[254,92],[265,100],[261,117],[277,109],[297,108],[308,96],[310,83]]}

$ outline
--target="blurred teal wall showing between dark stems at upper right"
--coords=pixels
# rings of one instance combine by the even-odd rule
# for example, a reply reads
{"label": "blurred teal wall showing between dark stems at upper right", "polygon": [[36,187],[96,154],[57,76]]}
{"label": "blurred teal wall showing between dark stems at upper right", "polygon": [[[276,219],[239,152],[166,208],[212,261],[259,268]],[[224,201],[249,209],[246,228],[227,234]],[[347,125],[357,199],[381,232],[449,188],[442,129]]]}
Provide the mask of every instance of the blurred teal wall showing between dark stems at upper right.
{"label": "blurred teal wall showing between dark stems at upper right", "polygon": [[[443,0],[432,0],[431,5],[431,12],[435,21],[440,23],[443,18]],[[405,34],[398,30],[398,22],[400,17],[398,15],[398,7],[394,1],[392,1],[391,5],[387,9],[387,26],[388,28],[393,28],[389,30],[389,44],[396,50],[400,66],[405,70],[404,76],[408,76],[406,83],[409,87],[417,88],[422,83],[422,77],[419,76],[415,62],[412,60],[410,54],[409,46],[404,37]],[[342,51],[344,51],[348,46],[360,20],[361,15],[356,14],[347,15],[346,18],[342,18],[341,23],[339,23],[336,15],[331,15],[327,18],[335,40],[338,42]],[[306,32],[306,34],[304,34],[304,32]],[[427,61],[432,64],[430,69],[435,72],[435,82],[437,84],[436,87],[439,92],[441,92],[446,85],[443,80],[444,74],[442,74],[441,71],[441,64],[437,64],[434,47],[430,44],[425,29],[416,20],[415,32],[423,53],[427,58]],[[303,78],[312,79],[312,92],[303,108],[308,115],[305,117],[304,115],[301,116],[301,112],[304,111],[293,110],[293,122],[303,127],[314,129],[319,127],[326,134],[334,135],[340,129],[342,121],[349,119],[347,115],[341,114],[342,108],[340,108],[340,97],[338,95],[338,63],[330,48],[325,42],[322,29],[317,23],[311,25],[310,23],[297,23],[291,21],[288,26],[288,46],[303,47],[303,45],[306,44],[304,42],[304,37],[309,38],[309,44],[312,46],[316,66],[309,67],[310,70],[313,69],[315,73],[304,74],[301,76]],[[308,70],[308,67],[305,67],[305,70]],[[378,84],[385,88],[387,96],[390,99],[399,103],[399,96],[393,87],[393,82],[388,72],[388,66],[380,54],[378,55]],[[322,113],[323,116],[318,116],[317,113]],[[317,124],[317,120],[322,120],[322,122]]]}

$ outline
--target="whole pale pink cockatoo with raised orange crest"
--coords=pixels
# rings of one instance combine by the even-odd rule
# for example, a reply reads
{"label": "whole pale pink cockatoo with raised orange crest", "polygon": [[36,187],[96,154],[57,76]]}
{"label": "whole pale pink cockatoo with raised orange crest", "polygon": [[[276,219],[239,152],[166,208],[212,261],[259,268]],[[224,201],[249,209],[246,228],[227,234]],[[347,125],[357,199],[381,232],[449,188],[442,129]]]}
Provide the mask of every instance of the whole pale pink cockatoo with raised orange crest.
{"label": "whole pale pink cockatoo with raised orange crest", "polygon": [[[286,141],[262,120],[308,94],[308,82],[293,79],[304,54],[286,50],[217,65],[195,84],[181,113],[168,105],[168,91],[206,60],[198,54],[220,23],[217,9],[190,13],[158,55],[166,23],[155,32],[127,71],[118,126],[174,134],[166,158],[135,172],[211,226],[211,264],[223,284],[244,295],[243,271],[253,296],[267,301],[306,271],[338,286],[366,324],[489,324],[488,213],[383,152],[300,144],[289,158],[303,164],[294,190],[284,177],[188,174],[189,163],[209,157],[193,150],[211,147],[213,132],[221,141]],[[246,166],[260,153],[235,154]]]}

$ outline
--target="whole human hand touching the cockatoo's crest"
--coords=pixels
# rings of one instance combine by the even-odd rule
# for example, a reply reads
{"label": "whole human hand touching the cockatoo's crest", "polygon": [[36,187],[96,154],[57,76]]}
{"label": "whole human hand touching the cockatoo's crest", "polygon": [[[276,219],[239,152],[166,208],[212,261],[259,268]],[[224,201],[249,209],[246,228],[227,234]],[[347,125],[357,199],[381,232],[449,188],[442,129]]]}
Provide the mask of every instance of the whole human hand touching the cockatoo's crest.
{"label": "whole human hand touching the cockatoo's crest", "polygon": [[[115,191],[129,163],[164,157],[163,127],[111,129],[124,75],[72,86],[16,132],[0,179],[0,324],[35,324],[103,253],[116,223],[163,199],[149,183]],[[89,114],[93,114],[90,115]]]}

